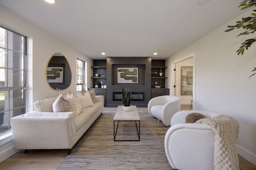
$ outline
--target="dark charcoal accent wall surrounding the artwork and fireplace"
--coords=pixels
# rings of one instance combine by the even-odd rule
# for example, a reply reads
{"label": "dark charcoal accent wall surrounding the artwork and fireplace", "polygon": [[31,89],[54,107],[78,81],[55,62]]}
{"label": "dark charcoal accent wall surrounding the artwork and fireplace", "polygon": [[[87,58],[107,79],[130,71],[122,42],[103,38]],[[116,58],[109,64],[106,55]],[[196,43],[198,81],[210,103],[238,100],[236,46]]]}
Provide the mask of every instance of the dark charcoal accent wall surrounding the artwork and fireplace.
{"label": "dark charcoal accent wall surrounding the artwork and fireplace", "polygon": [[[117,67],[138,67],[138,83],[118,84]],[[144,92],[144,101],[132,101],[132,105],[148,106],[151,99],[151,57],[107,57],[106,107],[117,107],[123,104],[122,101],[113,101],[113,92],[122,92],[122,87],[132,88],[132,92]]]}

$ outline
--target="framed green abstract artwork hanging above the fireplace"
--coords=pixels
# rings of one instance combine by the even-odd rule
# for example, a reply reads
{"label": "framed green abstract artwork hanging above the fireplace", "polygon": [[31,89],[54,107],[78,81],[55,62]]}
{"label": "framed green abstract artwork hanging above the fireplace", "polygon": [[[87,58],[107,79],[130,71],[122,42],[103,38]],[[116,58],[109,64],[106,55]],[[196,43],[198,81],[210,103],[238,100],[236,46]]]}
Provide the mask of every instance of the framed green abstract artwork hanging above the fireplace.
{"label": "framed green abstract artwork hanging above the fireplace", "polygon": [[117,83],[138,83],[138,68],[117,68]]}

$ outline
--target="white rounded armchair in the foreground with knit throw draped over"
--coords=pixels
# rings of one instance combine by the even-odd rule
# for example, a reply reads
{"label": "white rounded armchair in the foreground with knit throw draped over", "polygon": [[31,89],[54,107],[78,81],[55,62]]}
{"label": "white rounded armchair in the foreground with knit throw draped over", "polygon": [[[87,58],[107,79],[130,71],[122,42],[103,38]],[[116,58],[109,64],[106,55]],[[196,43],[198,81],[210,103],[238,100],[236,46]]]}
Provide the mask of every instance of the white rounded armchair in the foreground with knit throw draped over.
{"label": "white rounded armchair in the foreground with knit throw draped over", "polygon": [[183,110],[175,113],[164,139],[167,159],[178,170],[214,170],[214,137],[211,127],[185,123],[189,113],[202,113],[206,118],[222,115],[214,111]]}

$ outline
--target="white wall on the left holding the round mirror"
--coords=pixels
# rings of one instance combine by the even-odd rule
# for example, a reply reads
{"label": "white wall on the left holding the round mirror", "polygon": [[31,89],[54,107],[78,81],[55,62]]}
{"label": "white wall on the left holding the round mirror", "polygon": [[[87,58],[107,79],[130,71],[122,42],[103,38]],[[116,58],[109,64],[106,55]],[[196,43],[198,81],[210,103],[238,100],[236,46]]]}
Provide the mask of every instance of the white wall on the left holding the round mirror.
{"label": "white wall on the left holding the round mirror", "polygon": [[[40,18],[38,18],[40,19]],[[10,10],[0,6],[0,25],[12,29],[28,37],[28,101],[27,111],[32,111],[33,102],[58,96],[61,92],[76,93],[76,57],[87,62],[87,77],[92,75],[92,59],[80,53],[70,45],[60,41],[36,25],[24,20]],[[72,72],[71,85],[66,90],[53,90],[46,81],[46,64],[54,53],[62,53],[70,64]],[[87,79],[88,87],[92,87],[90,78]],[[15,152],[12,146],[5,147],[0,139],[0,162]],[[6,142],[5,142],[6,143]]]}

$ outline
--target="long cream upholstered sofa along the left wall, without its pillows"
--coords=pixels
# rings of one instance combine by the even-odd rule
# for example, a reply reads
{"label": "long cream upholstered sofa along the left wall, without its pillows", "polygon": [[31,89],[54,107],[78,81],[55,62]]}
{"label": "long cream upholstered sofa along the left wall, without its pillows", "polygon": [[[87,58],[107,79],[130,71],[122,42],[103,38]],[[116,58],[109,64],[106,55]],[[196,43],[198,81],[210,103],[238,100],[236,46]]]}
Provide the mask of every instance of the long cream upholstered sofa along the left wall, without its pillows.
{"label": "long cream upholstered sofa along the left wall, without its pillows", "polygon": [[34,102],[35,111],[10,119],[16,149],[69,149],[70,154],[104,109],[103,96],[95,96],[93,105],[81,108],[80,114],[53,112],[57,98]]}

